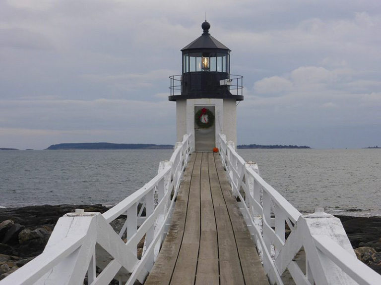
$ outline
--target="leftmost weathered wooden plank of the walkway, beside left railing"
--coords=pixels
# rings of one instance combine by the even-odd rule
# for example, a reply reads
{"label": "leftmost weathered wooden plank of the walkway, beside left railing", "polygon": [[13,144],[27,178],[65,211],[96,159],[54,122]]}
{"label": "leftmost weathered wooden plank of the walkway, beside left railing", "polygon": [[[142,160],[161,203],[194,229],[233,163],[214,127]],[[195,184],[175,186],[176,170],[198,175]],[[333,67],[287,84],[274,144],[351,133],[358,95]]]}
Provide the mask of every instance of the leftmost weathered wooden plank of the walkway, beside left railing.
{"label": "leftmost weathered wooden plank of the walkway, beside left railing", "polygon": [[175,268],[177,256],[183,239],[185,220],[187,216],[188,196],[191,186],[196,154],[190,156],[183,181],[177,195],[175,209],[173,211],[171,227],[164,240],[159,256],[145,281],[145,285],[169,284]]}

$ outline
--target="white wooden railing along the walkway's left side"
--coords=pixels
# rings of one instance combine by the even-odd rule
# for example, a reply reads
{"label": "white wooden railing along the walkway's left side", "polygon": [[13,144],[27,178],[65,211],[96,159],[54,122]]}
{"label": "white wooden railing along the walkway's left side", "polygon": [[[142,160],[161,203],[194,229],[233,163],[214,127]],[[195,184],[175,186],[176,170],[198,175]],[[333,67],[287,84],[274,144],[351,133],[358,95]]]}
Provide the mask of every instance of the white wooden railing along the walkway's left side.
{"label": "white wooden railing along the walkway's left side", "polygon": [[[185,135],[171,159],[160,163],[158,174],[150,182],[107,212],[77,210],[61,217],[43,253],[0,285],[83,284],[86,274],[89,285],[109,284],[113,279],[120,284],[133,284],[136,279],[143,282],[165,236],[192,151],[191,139]],[[126,222],[116,233],[110,222],[122,215],[127,215]],[[138,259],[136,248],[142,238],[144,248]],[[96,267],[102,271],[96,273]]]}

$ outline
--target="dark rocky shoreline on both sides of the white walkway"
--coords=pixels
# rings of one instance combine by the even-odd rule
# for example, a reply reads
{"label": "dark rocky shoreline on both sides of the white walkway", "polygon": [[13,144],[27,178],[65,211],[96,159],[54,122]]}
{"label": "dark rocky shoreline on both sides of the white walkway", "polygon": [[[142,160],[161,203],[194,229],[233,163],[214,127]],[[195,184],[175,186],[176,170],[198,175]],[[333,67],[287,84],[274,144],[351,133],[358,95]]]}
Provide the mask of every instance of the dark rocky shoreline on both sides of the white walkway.
{"label": "dark rocky shoreline on both sides of the white walkway", "polygon": [[[78,208],[86,212],[108,210],[100,204],[1,208],[0,280],[41,254],[57,220]],[[381,217],[336,217],[341,220],[357,257],[381,274]],[[121,229],[123,219],[113,222],[114,229]]]}

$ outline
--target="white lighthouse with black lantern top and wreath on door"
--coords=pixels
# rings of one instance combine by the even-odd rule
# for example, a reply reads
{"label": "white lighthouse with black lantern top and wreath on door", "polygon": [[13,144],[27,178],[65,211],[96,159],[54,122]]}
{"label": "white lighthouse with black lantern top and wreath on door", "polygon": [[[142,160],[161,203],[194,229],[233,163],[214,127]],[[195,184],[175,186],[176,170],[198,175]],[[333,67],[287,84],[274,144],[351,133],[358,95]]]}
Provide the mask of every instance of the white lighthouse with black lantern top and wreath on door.
{"label": "white lighthouse with black lantern top and wreath on door", "polygon": [[212,151],[219,134],[237,145],[237,102],[242,76],[230,74],[230,49],[213,38],[210,24],[202,35],[181,49],[182,74],[170,76],[170,101],[176,101],[177,141],[193,135],[195,151]]}

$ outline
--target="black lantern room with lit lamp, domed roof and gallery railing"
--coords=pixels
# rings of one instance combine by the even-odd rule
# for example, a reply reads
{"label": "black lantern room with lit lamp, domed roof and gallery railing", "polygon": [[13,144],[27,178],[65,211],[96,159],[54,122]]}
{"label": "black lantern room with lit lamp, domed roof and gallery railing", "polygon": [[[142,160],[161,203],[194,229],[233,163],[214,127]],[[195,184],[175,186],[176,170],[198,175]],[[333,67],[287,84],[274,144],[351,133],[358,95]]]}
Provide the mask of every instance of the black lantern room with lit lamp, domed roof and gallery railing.
{"label": "black lantern room with lit lamp, domed roof and gallery railing", "polygon": [[[196,40],[181,49],[182,75],[171,76],[170,101],[183,98],[235,98],[243,100],[242,88],[232,86],[233,80],[230,75],[230,49],[210,33],[210,24],[205,20],[201,28],[203,33]],[[239,77],[239,76],[238,76]],[[237,83],[241,83],[242,77]],[[181,84],[179,83],[181,81]],[[181,90],[181,96],[176,91]],[[230,91],[237,91],[231,93]]]}

